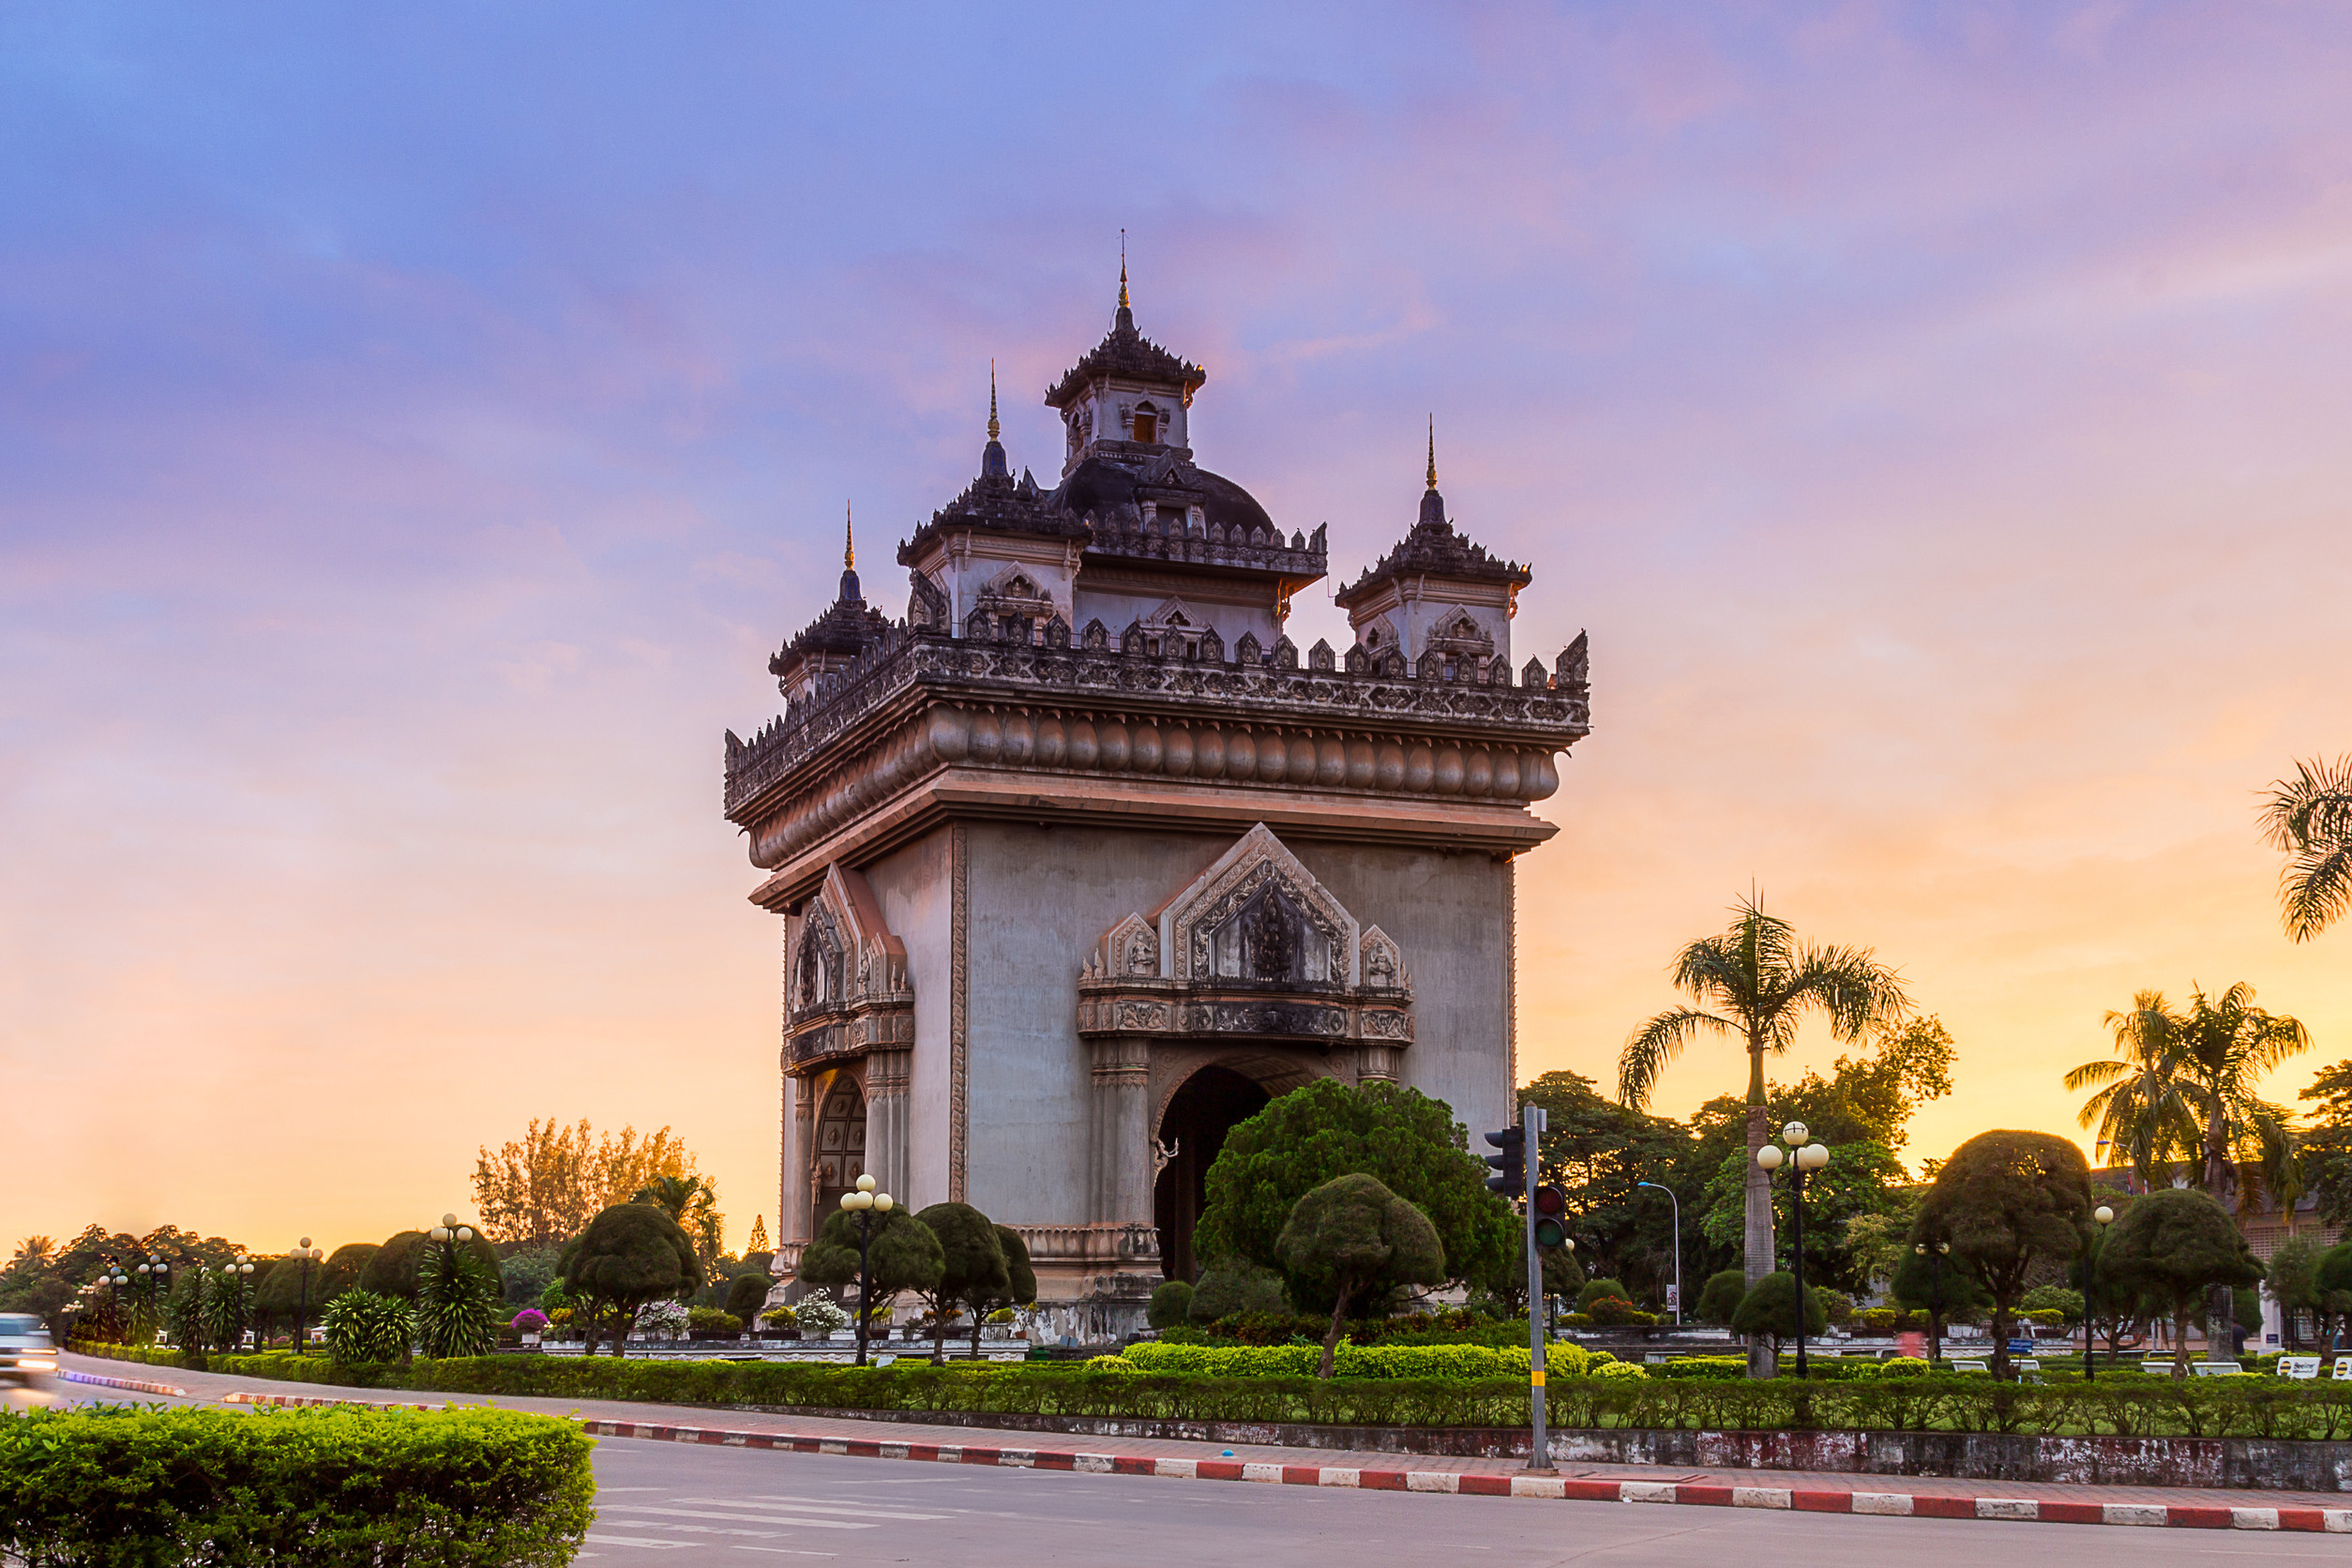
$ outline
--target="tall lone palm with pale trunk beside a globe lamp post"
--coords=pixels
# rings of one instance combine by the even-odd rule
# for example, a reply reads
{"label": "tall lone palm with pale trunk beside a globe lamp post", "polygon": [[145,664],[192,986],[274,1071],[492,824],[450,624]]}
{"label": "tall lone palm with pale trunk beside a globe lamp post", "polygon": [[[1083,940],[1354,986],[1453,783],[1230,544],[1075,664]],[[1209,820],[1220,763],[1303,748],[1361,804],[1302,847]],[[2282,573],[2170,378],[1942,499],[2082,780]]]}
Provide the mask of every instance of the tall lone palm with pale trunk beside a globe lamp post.
{"label": "tall lone palm with pale trunk beside a globe lamp post", "polygon": [[[1748,1215],[1745,1274],[1752,1286],[1773,1267],[1771,1178],[1755,1161],[1771,1138],[1764,1107],[1764,1056],[1788,1051],[1809,1011],[1830,1023],[1839,1044],[1853,1044],[1872,1025],[1896,1023],[1910,997],[1893,969],[1867,947],[1813,947],[1797,940],[1785,919],[1766,914],[1750,896],[1731,907],[1722,936],[1703,936],[1675,959],[1675,990],[1717,1011],[1677,1006],[1658,1013],[1618,1053],[1618,1100],[1632,1110],[1649,1103],[1665,1065],[1700,1034],[1729,1034],[1748,1046]],[[1764,1352],[1769,1354],[1769,1352]],[[1769,1373],[1769,1363],[1752,1368]]]}

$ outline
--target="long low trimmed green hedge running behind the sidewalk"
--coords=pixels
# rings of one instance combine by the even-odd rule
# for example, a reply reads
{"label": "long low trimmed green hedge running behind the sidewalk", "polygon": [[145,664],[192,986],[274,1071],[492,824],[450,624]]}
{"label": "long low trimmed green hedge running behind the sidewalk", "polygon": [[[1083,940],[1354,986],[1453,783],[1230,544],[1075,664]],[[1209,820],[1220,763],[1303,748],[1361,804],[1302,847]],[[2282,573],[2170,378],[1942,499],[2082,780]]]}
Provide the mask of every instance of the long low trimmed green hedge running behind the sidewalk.
{"label": "long low trimmed green hedge running behind the sidewalk", "polygon": [[[1524,1427],[1524,1378],[1209,1378],[1040,1366],[854,1368],[786,1361],[480,1356],[336,1368],[320,1356],[219,1356],[216,1371],[447,1394],[642,1399],[677,1406],[1082,1415],[1112,1420],[1310,1422],[1341,1427]],[[2352,1439],[2352,1382],[1983,1375],[1773,1378],[1559,1375],[1555,1427],[2027,1432],[2117,1436]]]}

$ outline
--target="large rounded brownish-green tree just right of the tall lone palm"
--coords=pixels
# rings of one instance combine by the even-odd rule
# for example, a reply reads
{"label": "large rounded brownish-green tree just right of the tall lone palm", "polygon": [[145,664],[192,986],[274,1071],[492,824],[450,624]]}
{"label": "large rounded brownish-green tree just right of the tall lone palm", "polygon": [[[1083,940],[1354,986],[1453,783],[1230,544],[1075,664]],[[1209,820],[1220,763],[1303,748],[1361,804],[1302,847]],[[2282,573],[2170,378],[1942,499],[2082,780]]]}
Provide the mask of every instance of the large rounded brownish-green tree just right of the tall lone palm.
{"label": "large rounded brownish-green tree just right of the tall lone palm", "polygon": [[2053,1133],[1978,1133],[1936,1171],[1912,1241],[1950,1241],[1992,1298],[1992,1373],[2009,1375],[2009,1331],[2037,1265],[2065,1265],[2091,1225],[2091,1166]]}

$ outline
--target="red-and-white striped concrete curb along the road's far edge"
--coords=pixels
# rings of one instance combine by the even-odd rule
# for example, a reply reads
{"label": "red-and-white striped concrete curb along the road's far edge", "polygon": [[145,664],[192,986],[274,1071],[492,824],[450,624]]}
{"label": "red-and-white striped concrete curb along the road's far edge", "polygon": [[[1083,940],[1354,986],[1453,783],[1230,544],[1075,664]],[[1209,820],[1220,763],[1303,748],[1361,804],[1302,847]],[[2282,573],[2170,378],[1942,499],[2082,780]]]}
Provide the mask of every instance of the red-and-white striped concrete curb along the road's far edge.
{"label": "red-and-white striped concrete curb along the road's far edge", "polygon": [[[334,1406],[367,1399],[308,1394],[223,1394],[226,1403]],[[435,1406],[388,1406],[430,1410]],[[2312,1530],[2352,1535],[2352,1509],[2241,1509],[2180,1502],[2067,1502],[2060,1497],[1950,1497],[1943,1493],[1849,1493],[1790,1486],[1691,1486],[1684,1481],[1581,1481],[1569,1476],[1477,1474],[1458,1469],[1355,1469],[1343,1465],[1256,1465],[1244,1460],[1155,1460],[1129,1453],[1058,1448],[974,1448],[969,1443],[884,1443],[854,1436],[793,1436],[788,1432],[729,1432],[724,1427],[659,1427],[630,1420],[583,1420],[590,1436],[654,1443],[713,1443],[781,1453],[833,1453],[861,1460],[924,1460],[934,1465],[1000,1465],[1004,1469],[1070,1469],[1105,1476],[1171,1481],[1258,1481],[1272,1486],[1341,1486],[1369,1493],[1454,1493],[1463,1497],[1557,1497],[1569,1502],[1665,1502],[1684,1507],[1788,1509],[1797,1514],[1877,1514],[1889,1519],[2013,1519],[2023,1523],[2166,1526],[2185,1530]]]}

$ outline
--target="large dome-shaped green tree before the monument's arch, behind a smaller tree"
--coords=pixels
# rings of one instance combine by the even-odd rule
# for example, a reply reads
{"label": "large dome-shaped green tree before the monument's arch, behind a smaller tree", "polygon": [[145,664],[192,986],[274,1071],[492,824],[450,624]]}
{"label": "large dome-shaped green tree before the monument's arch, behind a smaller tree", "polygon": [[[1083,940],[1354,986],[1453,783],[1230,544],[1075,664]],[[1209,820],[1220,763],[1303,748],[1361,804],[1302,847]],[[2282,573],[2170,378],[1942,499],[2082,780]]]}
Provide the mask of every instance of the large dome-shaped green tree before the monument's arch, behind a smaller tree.
{"label": "large dome-shaped green tree before the monument's arch, behind a smaller tree", "polygon": [[1444,1239],[1444,1279],[1505,1284],[1519,1218],[1486,1192],[1486,1166],[1454,1110],[1397,1084],[1315,1079],[1225,1133],[1195,1255],[1282,1267],[1277,1241],[1298,1199],[1338,1175],[1371,1175],[1421,1208]]}

